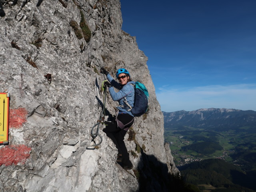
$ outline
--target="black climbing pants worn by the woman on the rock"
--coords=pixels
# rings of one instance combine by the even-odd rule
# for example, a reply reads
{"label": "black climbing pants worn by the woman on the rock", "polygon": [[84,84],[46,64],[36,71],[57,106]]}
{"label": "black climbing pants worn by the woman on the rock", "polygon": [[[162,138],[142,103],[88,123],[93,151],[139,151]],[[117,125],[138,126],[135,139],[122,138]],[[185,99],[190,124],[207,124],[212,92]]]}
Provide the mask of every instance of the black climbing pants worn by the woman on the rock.
{"label": "black climbing pants worn by the woman on the rock", "polygon": [[[129,114],[118,114],[117,116],[118,120],[121,121],[123,124],[127,124],[124,128],[128,128],[132,126],[134,122],[134,117],[130,116]],[[123,166],[130,166],[132,163],[129,159],[129,154],[127,151],[127,148],[124,143],[124,136],[126,134],[126,130],[120,129],[117,126],[116,121],[114,122],[104,122],[106,124],[106,128],[103,129],[103,132],[106,133],[106,135],[114,142],[116,145],[116,148],[118,149],[118,154],[122,154],[122,164]]]}

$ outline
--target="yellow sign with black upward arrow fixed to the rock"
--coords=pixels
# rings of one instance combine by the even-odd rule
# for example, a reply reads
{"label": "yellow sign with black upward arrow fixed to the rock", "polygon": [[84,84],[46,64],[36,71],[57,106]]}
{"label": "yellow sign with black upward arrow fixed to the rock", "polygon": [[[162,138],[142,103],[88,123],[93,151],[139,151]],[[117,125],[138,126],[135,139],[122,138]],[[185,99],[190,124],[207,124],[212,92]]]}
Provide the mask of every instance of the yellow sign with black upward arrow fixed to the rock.
{"label": "yellow sign with black upward arrow fixed to the rock", "polygon": [[8,144],[9,93],[0,93],[0,144]]}

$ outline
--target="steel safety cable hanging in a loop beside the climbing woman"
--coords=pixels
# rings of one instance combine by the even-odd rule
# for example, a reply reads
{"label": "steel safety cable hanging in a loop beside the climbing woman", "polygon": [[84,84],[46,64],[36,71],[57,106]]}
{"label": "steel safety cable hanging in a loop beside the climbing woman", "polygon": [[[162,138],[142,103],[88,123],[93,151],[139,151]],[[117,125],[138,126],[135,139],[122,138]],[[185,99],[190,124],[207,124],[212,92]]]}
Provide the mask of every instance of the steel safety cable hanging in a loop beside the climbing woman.
{"label": "steel safety cable hanging in a loop beside the climbing woman", "polygon": [[[91,58],[95,58],[94,55],[91,54]],[[96,58],[95,58],[96,59]],[[96,61],[98,62],[98,60],[96,59]],[[98,62],[99,66],[100,66],[100,63]],[[100,66],[101,67],[101,66]],[[104,74],[103,74],[104,76]],[[91,136],[92,136],[92,141],[95,143],[94,139],[99,136],[100,137],[100,142],[98,144],[94,144],[94,145],[88,145],[86,148],[88,147],[93,147],[93,146],[98,146],[102,143],[102,136],[99,134],[99,130],[100,130],[100,124],[104,122],[104,119],[105,119],[105,106],[106,106],[106,96],[107,96],[107,86],[104,85],[104,82],[106,82],[106,78],[104,76],[104,81],[102,82],[102,90],[103,90],[103,94],[104,94],[104,97],[103,97],[103,108],[102,108],[102,111],[100,113],[100,118],[97,120],[97,123],[94,124],[94,126],[92,126],[92,130],[91,130]],[[96,133],[94,133],[94,128],[97,126],[97,130],[96,130]]]}

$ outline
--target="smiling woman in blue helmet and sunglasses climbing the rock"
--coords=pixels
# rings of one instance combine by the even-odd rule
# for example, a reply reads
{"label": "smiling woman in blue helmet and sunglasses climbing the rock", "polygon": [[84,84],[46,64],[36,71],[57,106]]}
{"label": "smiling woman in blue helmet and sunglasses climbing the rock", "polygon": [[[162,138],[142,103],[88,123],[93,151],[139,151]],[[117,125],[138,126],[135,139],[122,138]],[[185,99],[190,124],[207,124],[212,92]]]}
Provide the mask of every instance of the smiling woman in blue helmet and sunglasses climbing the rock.
{"label": "smiling woman in blue helmet and sunglasses climbing the rock", "polygon": [[[107,76],[109,82],[106,81],[104,84],[108,86],[112,99],[118,101],[120,105],[117,107],[116,120],[114,122],[105,121],[106,128],[103,129],[103,132],[114,142],[118,149],[116,162],[122,162],[124,170],[129,170],[133,168],[133,165],[124,143],[124,136],[132,126],[134,116],[128,111],[130,108],[126,104],[128,102],[131,107],[134,105],[134,86],[132,84],[135,84],[135,82],[131,80],[128,70],[124,68],[118,69],[116,72],[119,83],[104,68],[100,68],[100,72]],[[119,91],[115,92],[113,87]]]}

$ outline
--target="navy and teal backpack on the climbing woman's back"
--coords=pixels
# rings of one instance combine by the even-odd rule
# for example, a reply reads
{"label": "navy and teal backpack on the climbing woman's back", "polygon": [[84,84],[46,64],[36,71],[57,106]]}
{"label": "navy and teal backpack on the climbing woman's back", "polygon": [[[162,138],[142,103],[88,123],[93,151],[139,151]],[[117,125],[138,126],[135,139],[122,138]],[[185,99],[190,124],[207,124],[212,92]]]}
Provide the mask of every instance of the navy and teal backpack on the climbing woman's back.
{"label": "navy and teal backpack on the climbing woman's back", "polygon": [[126,101],[126,98],[124,98],[124,102],[130,108],[128,111],[131,111],[134,116],[139,117],[146,113],[148,110],[148,90],[144,86],[144,84],[138,81],[136,81],[135,84],[132,85],[135,89],[134,106],[131,107]]}

